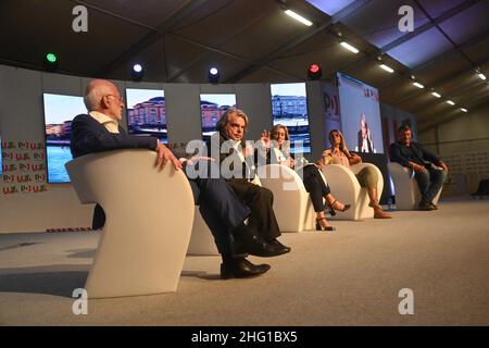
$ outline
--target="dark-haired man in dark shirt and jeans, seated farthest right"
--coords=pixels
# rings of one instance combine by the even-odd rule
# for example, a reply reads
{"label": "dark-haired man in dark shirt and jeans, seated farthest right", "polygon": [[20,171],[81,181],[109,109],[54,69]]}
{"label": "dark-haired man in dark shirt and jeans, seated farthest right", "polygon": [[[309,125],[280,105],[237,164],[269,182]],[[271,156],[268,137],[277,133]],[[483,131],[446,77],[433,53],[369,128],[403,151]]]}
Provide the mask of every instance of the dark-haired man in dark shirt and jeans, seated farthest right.
{"label": "dark-haired man in dark shirt and jeans, seated farthest right", "polygon": [[414,177],[422,194],[419,210],[436,210],[437,206],[432,203],[432,200],[443,186],[448,166],[438,157],[414,142],[411,136],[410,126],[399,127],[398,141],[390,145],[390,161],[398,162],[415,172]]}

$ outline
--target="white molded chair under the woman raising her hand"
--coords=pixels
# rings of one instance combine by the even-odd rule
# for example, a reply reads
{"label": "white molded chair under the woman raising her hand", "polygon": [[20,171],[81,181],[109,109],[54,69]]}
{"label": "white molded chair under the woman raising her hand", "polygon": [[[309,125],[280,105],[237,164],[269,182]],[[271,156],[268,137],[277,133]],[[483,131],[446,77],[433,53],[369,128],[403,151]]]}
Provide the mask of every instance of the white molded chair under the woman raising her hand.
{"label": "white molded chair under the woman raising her hand", "polygon": [[259,176],[262,186],[274,194],[274,212],[280,231],[314,229],[314,208],[298,173],[281,164],[267,164],[259,170]]}

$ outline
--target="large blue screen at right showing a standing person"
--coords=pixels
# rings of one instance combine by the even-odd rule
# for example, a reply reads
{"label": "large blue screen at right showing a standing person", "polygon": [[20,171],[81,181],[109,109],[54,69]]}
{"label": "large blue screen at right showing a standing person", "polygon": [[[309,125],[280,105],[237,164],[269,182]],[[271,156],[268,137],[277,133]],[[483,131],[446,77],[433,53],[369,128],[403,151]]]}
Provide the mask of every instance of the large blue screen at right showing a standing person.
{"label": "large blue screen at right showing a standing person", "polygon": [[338,73],[341,125],[349,150],[384,153],[378,90]]}

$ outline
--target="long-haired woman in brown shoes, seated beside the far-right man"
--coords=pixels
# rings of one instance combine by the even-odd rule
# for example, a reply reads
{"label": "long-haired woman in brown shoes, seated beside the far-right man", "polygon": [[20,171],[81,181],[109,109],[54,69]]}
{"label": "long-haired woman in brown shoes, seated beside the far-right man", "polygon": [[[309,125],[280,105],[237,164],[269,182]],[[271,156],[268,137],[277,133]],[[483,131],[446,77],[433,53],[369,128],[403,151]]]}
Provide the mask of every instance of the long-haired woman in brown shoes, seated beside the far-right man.
{"label": "long-haired woman in brown shoes, seated beside the far-right man", "polygon": [[[341,164],[350,167],[350,165],[362,162],[362,158],[360,156],[351,153],[348,150],[341,132],[337,129],[333,129],[331,132],[329,132],[329,142],[331,144],[331,147],[323,151],[323,161],[325,163]],[[361,170],[355,176],[359,181],[360,186],[366,187],[368,190],[368,197],[371,199],[368,206],[374,209],[374,217],[391,219],[392,216],[387,214],[378,202],[377,172],[374,169],[366,166]]]}

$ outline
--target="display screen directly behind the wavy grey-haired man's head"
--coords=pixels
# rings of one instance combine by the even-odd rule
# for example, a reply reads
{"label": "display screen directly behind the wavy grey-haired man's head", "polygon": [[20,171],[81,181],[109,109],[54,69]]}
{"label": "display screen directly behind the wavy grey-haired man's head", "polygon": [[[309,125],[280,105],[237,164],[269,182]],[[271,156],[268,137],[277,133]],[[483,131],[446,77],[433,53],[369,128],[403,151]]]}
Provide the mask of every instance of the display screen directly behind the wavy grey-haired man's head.
{"label": "display screen directly behind the wavy grey-haired man's head", "polygon": [[212,94],[200,95],[200,115],[202,119],[202,139],[209,142],[215,133],[215,125],[229,109],[236,108],[236,95]]}

